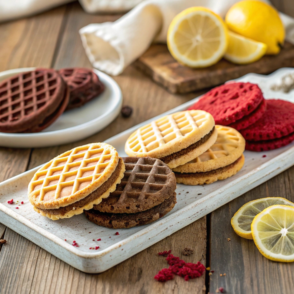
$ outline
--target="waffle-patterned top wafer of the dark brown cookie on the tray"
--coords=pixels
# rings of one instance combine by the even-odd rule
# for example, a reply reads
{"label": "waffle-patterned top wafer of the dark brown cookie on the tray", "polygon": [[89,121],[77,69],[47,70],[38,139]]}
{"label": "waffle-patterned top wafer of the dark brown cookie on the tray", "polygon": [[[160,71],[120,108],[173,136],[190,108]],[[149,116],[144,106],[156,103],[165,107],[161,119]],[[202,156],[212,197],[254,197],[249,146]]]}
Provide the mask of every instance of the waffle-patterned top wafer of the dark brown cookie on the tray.
{"label": "waffle-patterned top wafer of the dark brown cookie on the tray", "polygon": [[94,209],[112,213],[145,211],[169,198],[176,189],[171,169],[159,159],[124,157],[126,171],[121,183]]}

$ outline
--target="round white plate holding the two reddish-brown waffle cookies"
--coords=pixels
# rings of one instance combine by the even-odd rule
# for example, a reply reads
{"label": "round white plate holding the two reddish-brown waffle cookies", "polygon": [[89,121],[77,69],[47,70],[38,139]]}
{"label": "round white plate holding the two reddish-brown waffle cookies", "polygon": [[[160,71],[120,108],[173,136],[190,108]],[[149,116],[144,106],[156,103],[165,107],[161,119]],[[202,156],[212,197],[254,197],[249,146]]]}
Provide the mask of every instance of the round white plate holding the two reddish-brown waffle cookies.
{"label": "round white plate holding the two reddish-brown waffle cookies", "polygon": [[[0,73],[0,81],[34,67],[11,69]],[[121,110],[121,89],[110,76],[93,69],[105,85],[105,91],[85,105],[64,112],[51,126],[40,133],[1,133],[0,146],[38,148],[67,144],[87,138],[108,126]]]}

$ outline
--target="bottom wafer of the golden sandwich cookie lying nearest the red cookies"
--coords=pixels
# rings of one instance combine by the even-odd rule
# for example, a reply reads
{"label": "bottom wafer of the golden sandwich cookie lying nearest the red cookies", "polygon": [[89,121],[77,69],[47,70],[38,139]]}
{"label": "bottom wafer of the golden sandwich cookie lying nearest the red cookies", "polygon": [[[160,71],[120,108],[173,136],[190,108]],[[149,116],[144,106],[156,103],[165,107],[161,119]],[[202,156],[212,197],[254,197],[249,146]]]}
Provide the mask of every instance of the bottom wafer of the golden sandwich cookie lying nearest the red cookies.
{"label": "bottom wafer of the golden sandwich cookie lying nearest the red cookies", "polygon": [[216,182],[218,180],[225,180],[226,178],[229,178],[231,176],[234,176],[240,169],[243,167],[245,161],[245,157],[242,154],[241,155],[241,160],[234,165],[232,168],[228,169],[227,171],[217,173],[215,175],[211,176],[201,176],[201,177],[181,177],[181,175],[176,174],[176,180],[177,183],[182,183],[185,185],[191,185],[191,186],[196,186],[196,185],[203,185],[203,184],[211,184],[213,182]]}

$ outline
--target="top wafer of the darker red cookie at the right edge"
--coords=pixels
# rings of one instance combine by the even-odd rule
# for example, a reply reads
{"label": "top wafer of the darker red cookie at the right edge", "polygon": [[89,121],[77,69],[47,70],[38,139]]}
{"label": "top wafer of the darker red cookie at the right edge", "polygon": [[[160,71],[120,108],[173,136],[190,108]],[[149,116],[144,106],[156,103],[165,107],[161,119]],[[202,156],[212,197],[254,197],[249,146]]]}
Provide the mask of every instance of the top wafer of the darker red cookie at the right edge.
{"label": "top wafer of the darker red cookie at the right edge", "polygon": [[294,132],[294,104],[284,100],[267,100],[264,115],[240,131],[247,141],[268,141]]}

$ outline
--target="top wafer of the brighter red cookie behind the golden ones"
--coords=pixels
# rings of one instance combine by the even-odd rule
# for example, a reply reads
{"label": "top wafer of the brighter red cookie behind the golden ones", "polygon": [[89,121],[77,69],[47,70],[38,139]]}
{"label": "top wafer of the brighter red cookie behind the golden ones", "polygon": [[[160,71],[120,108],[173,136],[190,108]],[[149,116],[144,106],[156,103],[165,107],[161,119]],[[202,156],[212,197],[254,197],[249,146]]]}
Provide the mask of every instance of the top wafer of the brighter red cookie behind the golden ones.
{"label": "top wafer of the brighter red cookie behind the golden ones", "polygon": [[189,110],[205,110],[211,113],[216,124],[228,126],[254,111],[262,100],[257,85],[228,83],[204,94]]}

